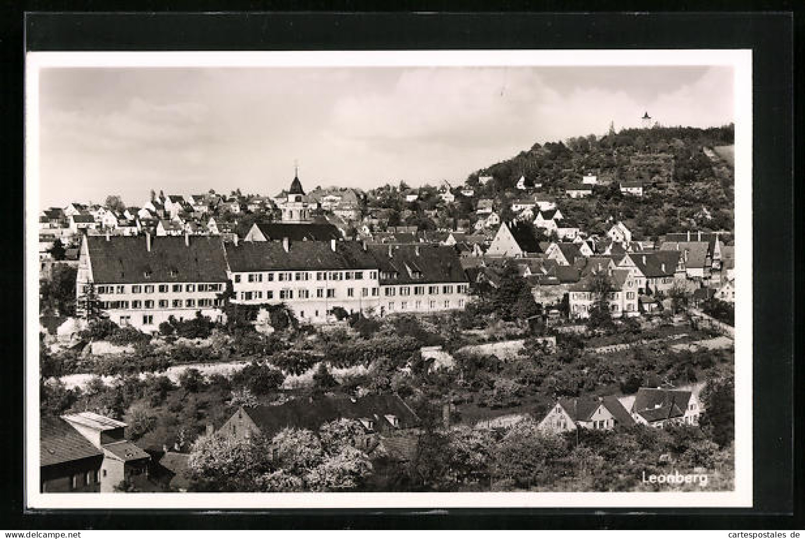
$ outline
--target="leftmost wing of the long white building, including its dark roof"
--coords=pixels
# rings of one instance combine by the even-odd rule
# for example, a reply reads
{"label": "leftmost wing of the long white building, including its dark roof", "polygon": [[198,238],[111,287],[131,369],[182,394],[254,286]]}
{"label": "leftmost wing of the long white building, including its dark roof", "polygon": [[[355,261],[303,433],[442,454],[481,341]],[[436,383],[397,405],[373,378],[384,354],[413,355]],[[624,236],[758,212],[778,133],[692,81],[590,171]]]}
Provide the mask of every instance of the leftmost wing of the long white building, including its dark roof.
{"label": "leftmost wing of the long white building, including its dark roof", "polygon": [[90,289],[118,325],[155,332],[169,316],[222,321],[228,280],[217,236],[85,236],[76,276],[78,312]]}

